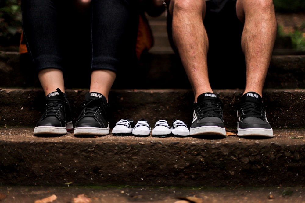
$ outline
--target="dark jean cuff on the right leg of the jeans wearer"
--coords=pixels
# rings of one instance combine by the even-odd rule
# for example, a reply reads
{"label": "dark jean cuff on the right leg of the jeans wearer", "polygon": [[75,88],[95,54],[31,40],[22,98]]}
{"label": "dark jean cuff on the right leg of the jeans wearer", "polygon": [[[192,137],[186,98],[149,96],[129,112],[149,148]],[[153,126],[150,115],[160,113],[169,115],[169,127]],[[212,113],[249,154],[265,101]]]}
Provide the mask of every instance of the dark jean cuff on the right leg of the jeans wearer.
{"label": "dark jean cuff on the right leg of the jeans wearer", "polygon": [[118,71],[120,62],[112,57],[95,57],[92,60],[91,70],[111,70],[115,73]]}

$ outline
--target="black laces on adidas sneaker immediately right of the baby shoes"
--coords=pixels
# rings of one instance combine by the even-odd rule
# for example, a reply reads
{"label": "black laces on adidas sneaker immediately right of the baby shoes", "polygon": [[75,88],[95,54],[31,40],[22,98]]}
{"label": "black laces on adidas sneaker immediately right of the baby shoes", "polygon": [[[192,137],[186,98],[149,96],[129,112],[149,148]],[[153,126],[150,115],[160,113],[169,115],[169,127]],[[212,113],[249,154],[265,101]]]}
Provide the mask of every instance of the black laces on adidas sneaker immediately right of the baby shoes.
{"label": "black laces on adidas sneaker immediately right of the baby shoes", "polygon": [[195,108],[195,111],[197,112],[199,119],[205,117],[218,117],[222,120],[223,117],[221,104],[213,101],[201,103]]}

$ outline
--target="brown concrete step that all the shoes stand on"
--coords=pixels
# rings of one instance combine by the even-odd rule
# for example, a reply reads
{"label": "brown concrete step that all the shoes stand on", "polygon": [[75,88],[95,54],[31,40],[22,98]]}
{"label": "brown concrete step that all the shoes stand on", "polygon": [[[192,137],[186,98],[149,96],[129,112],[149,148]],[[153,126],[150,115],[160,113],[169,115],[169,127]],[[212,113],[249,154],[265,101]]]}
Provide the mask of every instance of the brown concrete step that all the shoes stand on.
{"label": "brown concrete step that all the shoes stand on", "polygon": [[305,131],[274,138],[36,137],[0,128],[0,184],[303,187]]}

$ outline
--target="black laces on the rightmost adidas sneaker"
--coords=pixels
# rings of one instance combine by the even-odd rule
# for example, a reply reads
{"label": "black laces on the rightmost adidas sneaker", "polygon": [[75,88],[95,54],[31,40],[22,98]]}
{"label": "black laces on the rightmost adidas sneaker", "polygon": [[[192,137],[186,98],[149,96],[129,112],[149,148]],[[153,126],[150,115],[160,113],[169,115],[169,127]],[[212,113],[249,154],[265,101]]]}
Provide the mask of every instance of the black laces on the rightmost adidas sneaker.
{"label": "black laces on the rightmost adidas sneaker", "polygon": [[246,117],[257,117],[265,120],[265,109],[260,102],[243,102],[240,104],[239,110],[240,119]]}

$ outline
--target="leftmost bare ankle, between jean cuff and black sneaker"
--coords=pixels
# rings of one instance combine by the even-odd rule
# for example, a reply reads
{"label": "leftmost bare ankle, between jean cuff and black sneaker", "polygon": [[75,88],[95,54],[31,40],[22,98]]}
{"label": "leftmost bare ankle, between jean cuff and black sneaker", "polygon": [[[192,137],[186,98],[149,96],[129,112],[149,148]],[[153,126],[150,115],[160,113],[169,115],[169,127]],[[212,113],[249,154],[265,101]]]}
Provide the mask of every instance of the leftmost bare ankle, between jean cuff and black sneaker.
{"label": "leftmost bare ankle, between jean cuff and black sneaker", "polygon": [[38,78],[41,83],[42,89],[47,96],[51,92],[57,91],[59,88],[65,92],[65,85],[63,80],[63,72],[54,68],[47,68],[39,71]]}

